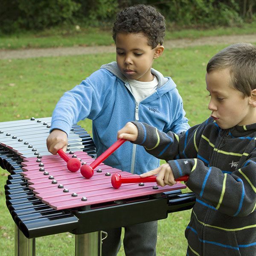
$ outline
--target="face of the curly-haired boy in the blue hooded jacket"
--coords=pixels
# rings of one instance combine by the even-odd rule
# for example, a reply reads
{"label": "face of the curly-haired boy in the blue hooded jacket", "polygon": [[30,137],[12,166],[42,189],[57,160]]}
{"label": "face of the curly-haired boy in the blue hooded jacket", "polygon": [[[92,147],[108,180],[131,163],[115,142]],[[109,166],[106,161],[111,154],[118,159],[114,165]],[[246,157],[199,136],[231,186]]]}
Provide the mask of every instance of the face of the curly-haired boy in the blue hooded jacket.
{"label": "face of the curly-haired boy in the blue hooded jacket", "polygon": [[163,46],[152,49],[143,33],[118,33],[116,35],[116,62],[128,79],[152,81],[151,67],[154,58],[163,52]]}

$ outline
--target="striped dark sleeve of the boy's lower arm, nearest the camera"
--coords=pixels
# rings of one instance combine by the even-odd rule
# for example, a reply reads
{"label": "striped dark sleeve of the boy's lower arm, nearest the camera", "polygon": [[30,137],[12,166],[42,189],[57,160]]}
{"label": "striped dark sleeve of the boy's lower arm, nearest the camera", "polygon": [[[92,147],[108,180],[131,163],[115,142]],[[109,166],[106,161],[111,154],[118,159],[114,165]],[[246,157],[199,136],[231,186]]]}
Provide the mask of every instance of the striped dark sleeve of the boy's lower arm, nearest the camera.
{"label": "striped dark sleeve of the boy's lower arm, nearest the camera", "polygon": [[230,216],[247,216],[256,209],[256,150],[232,173],[207,167],[200,159],[168,161],[174,178],[189,175],[186,185],[197,202]]}

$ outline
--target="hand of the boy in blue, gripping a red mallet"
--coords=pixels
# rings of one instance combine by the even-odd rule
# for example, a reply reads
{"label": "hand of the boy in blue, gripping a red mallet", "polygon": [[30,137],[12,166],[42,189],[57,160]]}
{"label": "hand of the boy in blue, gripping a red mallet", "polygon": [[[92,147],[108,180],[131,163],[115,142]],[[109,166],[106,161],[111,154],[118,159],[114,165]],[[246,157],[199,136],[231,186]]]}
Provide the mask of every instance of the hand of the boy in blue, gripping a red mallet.
{"label": "hand of the boy in blue, gripping a red mallet", "polygon": [[59,149],[67,150],[67,134],[64,131],[54,129],[46,140],[48,151],[57,154]]}

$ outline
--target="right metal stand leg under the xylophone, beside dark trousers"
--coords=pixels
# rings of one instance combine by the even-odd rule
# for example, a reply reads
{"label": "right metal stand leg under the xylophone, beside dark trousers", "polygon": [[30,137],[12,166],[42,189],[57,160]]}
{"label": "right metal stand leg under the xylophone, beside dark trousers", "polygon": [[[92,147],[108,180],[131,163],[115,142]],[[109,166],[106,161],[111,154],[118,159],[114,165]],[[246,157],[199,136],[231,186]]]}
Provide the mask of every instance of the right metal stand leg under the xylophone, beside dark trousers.
{"label": "right metal stand leg under the xylophone, beside dark trousers", "polygon": [[101,231],[76,235],[76,256],[101,256]]}

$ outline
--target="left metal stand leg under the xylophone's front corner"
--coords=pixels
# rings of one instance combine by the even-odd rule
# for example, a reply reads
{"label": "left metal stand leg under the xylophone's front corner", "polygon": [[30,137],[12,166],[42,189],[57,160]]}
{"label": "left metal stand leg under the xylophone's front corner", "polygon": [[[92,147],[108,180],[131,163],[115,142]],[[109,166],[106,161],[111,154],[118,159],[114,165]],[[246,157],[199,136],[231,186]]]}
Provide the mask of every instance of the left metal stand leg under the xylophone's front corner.
{"label": "left metal stand leg under the xylophone's front corner", "polygon": [[14,224],[15,256],[35,256],[35,238],[28,239]]}

